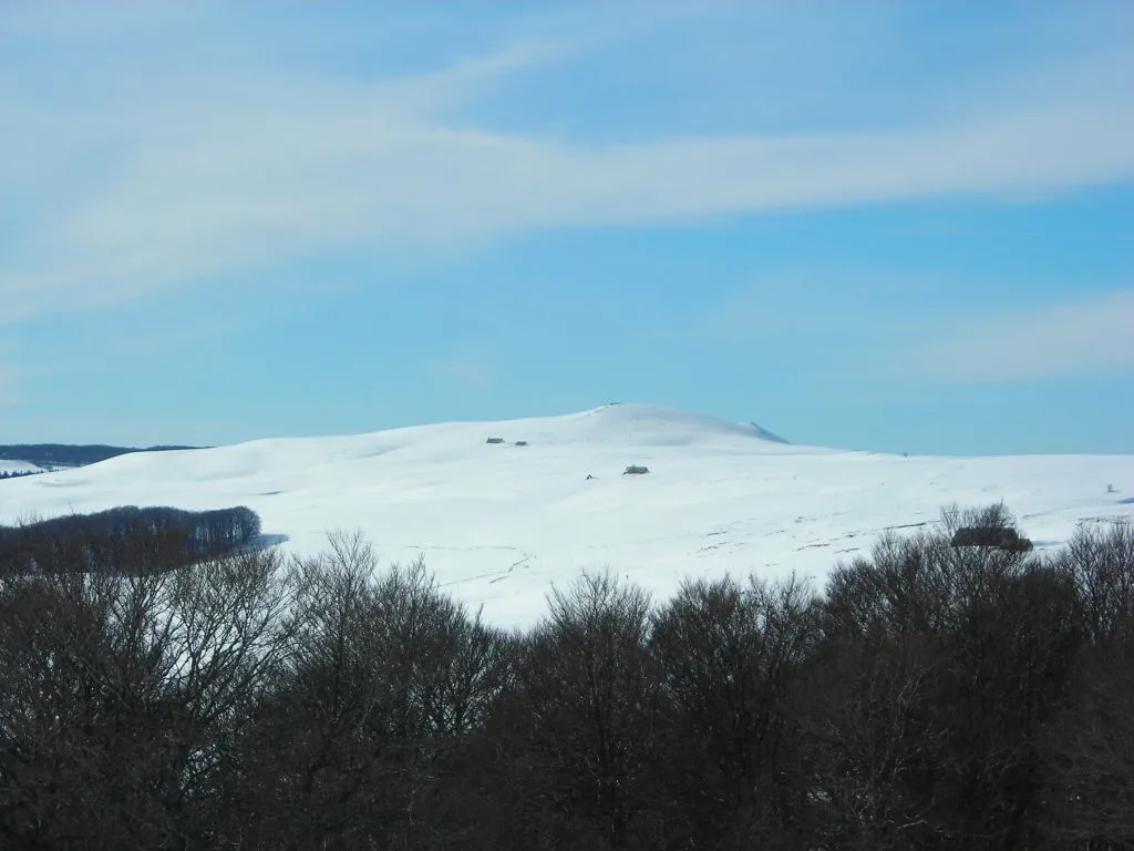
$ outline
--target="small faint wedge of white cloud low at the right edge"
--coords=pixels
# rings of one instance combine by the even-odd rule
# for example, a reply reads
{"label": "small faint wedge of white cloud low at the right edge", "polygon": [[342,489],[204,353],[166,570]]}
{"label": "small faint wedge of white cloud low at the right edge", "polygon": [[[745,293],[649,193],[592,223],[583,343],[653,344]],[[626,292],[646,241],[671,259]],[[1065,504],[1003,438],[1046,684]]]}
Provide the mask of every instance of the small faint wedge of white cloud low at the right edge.
{"label": "small faint wedge of white cloud low at the right edge", "polygon": [[902,359],[919,379],[988,384],[1134,370],[1134,289],[959,320]]}

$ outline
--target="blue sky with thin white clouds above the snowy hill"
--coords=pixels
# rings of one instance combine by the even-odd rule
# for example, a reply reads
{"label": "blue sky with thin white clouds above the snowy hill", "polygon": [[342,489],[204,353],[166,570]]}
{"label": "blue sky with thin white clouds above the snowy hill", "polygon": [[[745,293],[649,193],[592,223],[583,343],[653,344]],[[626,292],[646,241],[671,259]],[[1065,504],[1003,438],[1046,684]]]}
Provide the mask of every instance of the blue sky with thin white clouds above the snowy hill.
{"label": "blue sky with thin white clouds above the snowy hill", "polygon": [[0,443],[1134,452],[1132,83],[1119,2],[7,2]]}

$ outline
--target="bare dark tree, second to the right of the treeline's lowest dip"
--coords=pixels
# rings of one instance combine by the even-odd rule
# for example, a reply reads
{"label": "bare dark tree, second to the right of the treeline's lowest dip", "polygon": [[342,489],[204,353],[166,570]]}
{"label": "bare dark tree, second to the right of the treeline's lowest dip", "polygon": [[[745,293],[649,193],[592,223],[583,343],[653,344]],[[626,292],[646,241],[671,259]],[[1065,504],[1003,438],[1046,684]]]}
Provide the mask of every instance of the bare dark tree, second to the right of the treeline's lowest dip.
{"label": "bare dark tree, second to the right of the treeline's lowest dip", "polygon": [[786,828],[801,794],[789,765],[789,683],[819,639],[812,592],[793,580],[694,582],[659,612],[655,770],[672,848],[746,848]]}

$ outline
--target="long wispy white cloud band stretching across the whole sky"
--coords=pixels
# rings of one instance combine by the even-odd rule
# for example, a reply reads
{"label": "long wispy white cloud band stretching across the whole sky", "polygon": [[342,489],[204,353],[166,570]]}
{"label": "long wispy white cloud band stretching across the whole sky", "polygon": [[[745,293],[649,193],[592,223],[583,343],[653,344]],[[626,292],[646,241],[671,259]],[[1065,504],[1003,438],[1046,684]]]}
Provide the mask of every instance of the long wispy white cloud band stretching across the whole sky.
{"label": "long wispy white cloud band stretching across the whole sky", "polygon": [[[93,186],[65,191],[58,214],[33,222],[23,250],[0,261],[0,322],[323,252],[400,256],[541,228],[1030,197],[1134,177],[1134,118],[1112,87],[1038,86],[1004,109],[874,133],[587,145],[446,120],[450,104],[564,56],[519,44],[367,85],[290,74],[229,94],[206,81],[174,106],[92,116],[101,146],[124,153]],[[40,132],[77,121],[26,118]]]}

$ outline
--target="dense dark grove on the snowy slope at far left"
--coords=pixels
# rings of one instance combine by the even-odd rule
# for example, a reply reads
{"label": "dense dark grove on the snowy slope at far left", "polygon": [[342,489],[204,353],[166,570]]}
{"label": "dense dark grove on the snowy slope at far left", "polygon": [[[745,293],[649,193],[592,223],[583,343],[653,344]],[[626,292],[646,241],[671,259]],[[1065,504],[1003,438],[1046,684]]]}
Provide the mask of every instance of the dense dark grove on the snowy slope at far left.
{"label": "dense dark grove on the snowy slope at far left", "polygon": [[260,532],[260,516],[244,506],[70,514],[0,526],[0,574],[162,573],[246,547]]}

